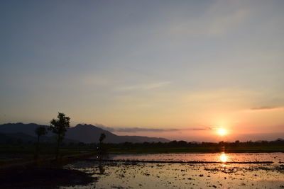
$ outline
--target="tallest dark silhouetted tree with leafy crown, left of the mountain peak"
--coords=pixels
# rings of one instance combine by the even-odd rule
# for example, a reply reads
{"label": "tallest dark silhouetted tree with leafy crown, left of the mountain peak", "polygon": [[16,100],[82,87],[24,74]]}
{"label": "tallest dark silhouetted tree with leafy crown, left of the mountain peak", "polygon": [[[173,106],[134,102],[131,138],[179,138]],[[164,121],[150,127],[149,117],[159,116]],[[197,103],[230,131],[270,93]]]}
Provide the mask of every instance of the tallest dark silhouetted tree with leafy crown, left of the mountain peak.
{"label": "tallest dark silhouetted tree with leafy crown, left of the mountain peak", "polygon": [[56,147],[55,156],[57,160],[59,154],[59,147],[65,137],[65,132],[67,131],[68,127],[70,127],[70,118],[66,117],[64,113],[58,113],[58,119],[53,119],[50,121],[50,130],[57,135],[56,140],[58,144]]}

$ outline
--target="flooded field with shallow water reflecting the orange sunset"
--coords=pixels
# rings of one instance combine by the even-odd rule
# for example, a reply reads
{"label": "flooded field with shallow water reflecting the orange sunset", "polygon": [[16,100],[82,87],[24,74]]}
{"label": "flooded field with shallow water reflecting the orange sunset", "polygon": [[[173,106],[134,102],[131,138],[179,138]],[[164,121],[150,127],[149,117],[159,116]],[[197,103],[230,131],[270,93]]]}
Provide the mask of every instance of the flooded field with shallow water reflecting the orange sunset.
{"label": "flooded field with shallow water reflecting the orange sunset", "polygon": [[[192,159],[187,159],[189,156]],[[119,155],[109,158],[121,161],[77,161],[65,168],[84,171],[97,178],[94,183],[70,188],[284,188],[283,157],[283,153]],[[123,159],[141,162],[122,161]],[[161,159],[165,161],[142,161]],[[242,164],[254,161],[273,162]]]}

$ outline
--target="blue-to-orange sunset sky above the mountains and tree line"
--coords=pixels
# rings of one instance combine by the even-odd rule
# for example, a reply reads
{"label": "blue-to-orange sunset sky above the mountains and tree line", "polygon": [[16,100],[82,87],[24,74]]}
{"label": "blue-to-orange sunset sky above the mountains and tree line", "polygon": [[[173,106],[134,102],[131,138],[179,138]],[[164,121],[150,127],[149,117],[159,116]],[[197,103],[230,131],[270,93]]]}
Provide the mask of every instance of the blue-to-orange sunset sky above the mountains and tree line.
{"label": "blue-to-orange sunset sky above the mountains and tree line", "polygon": [[[284,137],[284,1],[1,1],[0,124]],[[217,131],[224,128],[226,135]]]}

